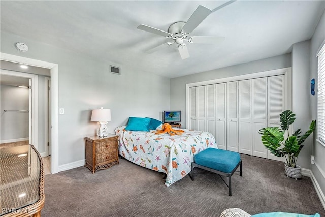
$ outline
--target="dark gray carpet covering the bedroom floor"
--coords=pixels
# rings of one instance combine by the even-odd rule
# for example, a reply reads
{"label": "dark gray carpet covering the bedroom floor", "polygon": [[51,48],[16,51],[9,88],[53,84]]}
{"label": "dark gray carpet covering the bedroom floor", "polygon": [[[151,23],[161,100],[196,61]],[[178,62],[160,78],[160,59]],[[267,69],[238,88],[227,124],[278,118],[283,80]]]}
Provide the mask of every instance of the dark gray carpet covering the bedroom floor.
{"label": "dark gray carpet covering the bedroom floor", "polygon": [[286,177],[283,162],[241,157],[243,176],[233,175],[231,197],[217,174],[196,175],[194,181],[187,175],[166,187],[162,173],[125,159],[94,174],[78,167],[46,175],[42,216],[219,216],[232,207],[250,214],[282,211],[325,216],[309,177]]}

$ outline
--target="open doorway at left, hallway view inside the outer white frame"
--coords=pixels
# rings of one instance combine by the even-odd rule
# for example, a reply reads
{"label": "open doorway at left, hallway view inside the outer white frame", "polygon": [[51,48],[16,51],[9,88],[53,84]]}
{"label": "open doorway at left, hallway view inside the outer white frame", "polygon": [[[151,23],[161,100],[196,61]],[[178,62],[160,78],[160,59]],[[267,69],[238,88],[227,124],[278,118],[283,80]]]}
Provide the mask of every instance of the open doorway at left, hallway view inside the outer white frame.
{"label": "open doorway at left, hallway view inside the outer white frame", "polygon": [[[5,61],[1,63],[1,68],[14,69],[14,67],[9,67]],[[50,174],[51,98],[49,87],[51,80],[46,77],[50,75],[50,71],[24,65],[24,69],[27,68],[28,70],[21,70],[26,72],[0,69],[2,129],[0,148],[33,144],[43,157],[45,174]],[[38,72],[38,75],[30,74],[34,70]],[[42,114],[45,115],[42,116]],[[36,132],[34,132],[35,129],[31,129],[31,126],[35,127]]]}

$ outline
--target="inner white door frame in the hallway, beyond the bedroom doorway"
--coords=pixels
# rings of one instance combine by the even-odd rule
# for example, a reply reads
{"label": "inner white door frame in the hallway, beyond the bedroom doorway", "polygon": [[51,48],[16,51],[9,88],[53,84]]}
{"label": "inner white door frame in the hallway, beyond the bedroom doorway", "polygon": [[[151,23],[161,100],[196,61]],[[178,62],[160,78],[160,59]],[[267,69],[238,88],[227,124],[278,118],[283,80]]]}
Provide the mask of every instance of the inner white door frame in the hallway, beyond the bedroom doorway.
{"label": "inner white door frame in the hallway, beyond the bedroom doorway", "polygon": [[38,105],[38,97],[37,97],[38,96],[38,75],[24,73],[24,72],[10,71],[5,69],[0,69],[0,74],[31,79],[31,96],[30,96],[31,112],[29,112],[29,115],[31,115],[31,119],[29,120],[28,123],[29,125],[28,137],[29,137],[29,144],[33,144],[34,147],[38,150],[38,106],[37,106]]}

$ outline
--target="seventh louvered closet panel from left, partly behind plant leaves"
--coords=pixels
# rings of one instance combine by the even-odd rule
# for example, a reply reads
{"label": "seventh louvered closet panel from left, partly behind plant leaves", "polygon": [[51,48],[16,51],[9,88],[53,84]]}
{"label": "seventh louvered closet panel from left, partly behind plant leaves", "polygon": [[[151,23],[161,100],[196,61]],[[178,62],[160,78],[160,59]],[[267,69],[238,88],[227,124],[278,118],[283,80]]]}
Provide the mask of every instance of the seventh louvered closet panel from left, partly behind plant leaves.
{"label": "seventh louvered closet panel from left, partly behind plant leaves", "polygon": [[252,148],[253,156],[268,158],[268,150],[263,145],[259,130],[268,125],[268,78],[252,79]]}

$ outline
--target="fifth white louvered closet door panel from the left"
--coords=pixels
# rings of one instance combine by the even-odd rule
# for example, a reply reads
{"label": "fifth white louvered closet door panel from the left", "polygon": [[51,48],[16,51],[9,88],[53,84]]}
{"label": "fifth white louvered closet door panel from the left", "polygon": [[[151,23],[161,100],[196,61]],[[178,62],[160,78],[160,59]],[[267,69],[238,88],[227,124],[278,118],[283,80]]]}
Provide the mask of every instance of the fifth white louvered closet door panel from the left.
{"label": "fifth white louvered closet door panel from the left", "polygon": [[227,83],[227,150],[238,152],[238,81]]}

